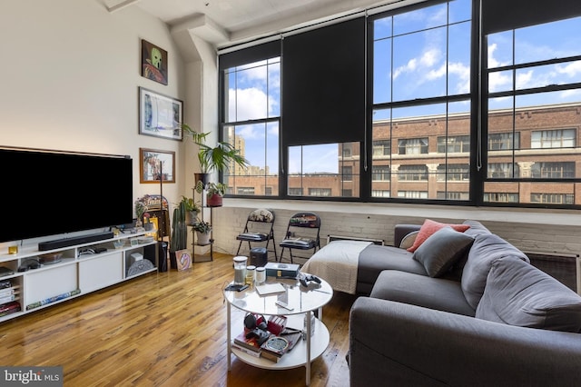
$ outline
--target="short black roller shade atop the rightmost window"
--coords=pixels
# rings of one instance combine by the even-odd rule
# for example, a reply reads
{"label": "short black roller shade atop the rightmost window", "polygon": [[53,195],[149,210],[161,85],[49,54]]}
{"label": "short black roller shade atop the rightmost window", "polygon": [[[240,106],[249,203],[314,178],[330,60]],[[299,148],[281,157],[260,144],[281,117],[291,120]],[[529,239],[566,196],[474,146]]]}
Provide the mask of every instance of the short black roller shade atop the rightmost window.
{"label": "short black roller shade atop the rightmost window", "polygon": [[484,34],[581,15],[579,0],[481,0]]}

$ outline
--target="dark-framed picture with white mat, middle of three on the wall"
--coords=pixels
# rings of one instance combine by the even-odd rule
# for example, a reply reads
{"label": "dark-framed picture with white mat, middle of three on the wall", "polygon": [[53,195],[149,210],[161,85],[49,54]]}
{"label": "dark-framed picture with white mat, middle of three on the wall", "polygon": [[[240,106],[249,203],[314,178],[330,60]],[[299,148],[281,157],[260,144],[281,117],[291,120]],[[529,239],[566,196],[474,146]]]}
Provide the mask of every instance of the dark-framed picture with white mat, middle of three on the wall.
{"label": "dark-framed picture with white mat, middle of three on the wall", "polygon": [[183,102],[139,88],[139,134],[181,141]]}

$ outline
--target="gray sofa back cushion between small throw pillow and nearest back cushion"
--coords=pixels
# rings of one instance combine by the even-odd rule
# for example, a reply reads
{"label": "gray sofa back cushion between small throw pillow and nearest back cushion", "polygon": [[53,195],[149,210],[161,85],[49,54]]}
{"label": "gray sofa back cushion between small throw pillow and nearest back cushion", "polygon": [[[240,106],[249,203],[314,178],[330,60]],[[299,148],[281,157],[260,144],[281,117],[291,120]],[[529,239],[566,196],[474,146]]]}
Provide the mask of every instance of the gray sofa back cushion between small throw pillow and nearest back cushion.
{"label": "gray sofa back cushion between small throw pillow and nearest back cushion", "polygon": [[474,309],[478,307],[480,298],[484,293],[492,263],[499,258],[511,255],[529,262],[525,253],[495,233],[480,233],[474,238],[474,243],[468,252],[468,260],[462,271],[461,280],[464,296]]}

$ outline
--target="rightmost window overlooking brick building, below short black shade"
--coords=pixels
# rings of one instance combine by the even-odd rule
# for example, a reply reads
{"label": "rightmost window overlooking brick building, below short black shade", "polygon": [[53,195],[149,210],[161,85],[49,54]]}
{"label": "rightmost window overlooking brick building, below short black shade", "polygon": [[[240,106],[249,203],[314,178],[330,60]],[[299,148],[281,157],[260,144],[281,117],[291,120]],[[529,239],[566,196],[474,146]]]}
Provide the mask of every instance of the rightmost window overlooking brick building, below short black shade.
{"label": "rightmost window overlooking brick building, below short black shade", "polygon": [[581,204],[580,30],[576,17],[486,36],[485,202]]}

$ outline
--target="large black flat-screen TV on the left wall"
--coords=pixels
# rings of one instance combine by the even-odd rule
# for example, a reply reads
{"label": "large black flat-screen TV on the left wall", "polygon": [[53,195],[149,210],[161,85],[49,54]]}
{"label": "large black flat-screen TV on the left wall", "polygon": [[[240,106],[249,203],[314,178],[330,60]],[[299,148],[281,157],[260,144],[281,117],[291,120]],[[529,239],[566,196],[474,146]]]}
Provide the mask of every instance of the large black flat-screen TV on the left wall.
{"label": "large black flat-screen TV on the left wall", "polygon": [[0,149],[0,242],[133,222],[129,156]]}

